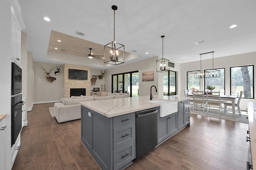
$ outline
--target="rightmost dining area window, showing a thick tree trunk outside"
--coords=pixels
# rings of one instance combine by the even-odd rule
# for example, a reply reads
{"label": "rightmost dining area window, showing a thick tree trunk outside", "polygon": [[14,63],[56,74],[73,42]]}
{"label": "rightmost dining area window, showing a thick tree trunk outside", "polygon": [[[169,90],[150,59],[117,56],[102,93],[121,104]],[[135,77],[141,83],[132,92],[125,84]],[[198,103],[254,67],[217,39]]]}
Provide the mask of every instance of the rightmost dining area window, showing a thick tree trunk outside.
{"label": "rightmost dining area window, showing a thick tree trunk outside", "polygon": [[230,94],[239,95],[243,91],[242,98],[254,99],[254,66],[230,67]]}

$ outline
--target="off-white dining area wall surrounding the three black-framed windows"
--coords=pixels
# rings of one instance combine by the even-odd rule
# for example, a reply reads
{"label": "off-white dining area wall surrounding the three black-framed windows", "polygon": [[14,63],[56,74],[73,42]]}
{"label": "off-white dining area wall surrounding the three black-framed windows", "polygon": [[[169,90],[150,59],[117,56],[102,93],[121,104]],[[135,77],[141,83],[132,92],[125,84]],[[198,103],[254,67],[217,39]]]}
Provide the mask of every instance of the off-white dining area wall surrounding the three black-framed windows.
{"label": "off-white dining area wall surrounding the three black-framed windows", "polygon": [[[245,53],[239,55],[232,55],[227,57],[214,58],[214,68],[225,68],[225,92],[226,95],[230,95],[230,67],[233,66],[245,66],[254,65],[254,85],[256,80],[255,65],[256,65],[256,52]],[[212,59],[202,61],[202,70],[212,68]],[[181,79],[180,79],[180,92],[186,89],[186,72],[200,70],[200,61],[181,64]],[[202,79],[203,80],[203,79]],[[255,87],[255,86],[254,86]],[[203,83],[201,83],[201,89],[203,89]],[[181,94],[181,93],[180,93]],[[256,97],[256,90],[254,89],[254,97]],[[252,102],[252,99],[241,99],[240,107],[245,110],[247,108],[247,102]]]}

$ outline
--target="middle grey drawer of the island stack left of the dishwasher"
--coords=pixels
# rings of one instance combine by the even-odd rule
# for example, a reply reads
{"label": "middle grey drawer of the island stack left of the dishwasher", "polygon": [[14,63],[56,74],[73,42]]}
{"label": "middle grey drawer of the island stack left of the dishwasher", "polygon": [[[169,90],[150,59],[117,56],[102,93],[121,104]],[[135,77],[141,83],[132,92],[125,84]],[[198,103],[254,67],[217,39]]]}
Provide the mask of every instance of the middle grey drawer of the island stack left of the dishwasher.
{"label": "middle grey drawer of the island stack left of the dishwasher", "polygon": [[135,123],[118,127],[113,131],[113,150],[135,140]]}

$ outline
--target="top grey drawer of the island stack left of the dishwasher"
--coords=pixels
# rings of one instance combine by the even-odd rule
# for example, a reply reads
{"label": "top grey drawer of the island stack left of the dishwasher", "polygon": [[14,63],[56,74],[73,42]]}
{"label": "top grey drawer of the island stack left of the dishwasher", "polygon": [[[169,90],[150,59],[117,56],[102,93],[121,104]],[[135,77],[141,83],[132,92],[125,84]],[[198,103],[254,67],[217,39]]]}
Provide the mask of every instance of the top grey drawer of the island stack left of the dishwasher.
{"label": "top grey drawer of the island stack left of the dishwasher", "polygon": [[135,122],[135,113],[113,117],[113,128],[121,127]]}

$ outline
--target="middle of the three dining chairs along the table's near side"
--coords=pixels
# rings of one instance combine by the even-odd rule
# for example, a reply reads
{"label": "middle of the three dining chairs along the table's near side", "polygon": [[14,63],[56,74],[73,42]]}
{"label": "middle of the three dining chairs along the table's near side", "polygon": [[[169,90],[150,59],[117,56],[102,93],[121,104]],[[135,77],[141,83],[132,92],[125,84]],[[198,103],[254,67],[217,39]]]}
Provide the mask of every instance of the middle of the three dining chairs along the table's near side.
{"label": "middle of the three dining chairs along the table's near side", "polygon": [[[213,97],[213,98],[210,98]],[[206,92],[206,98],[207,98],[207,109],[208,112],[210,110],[210,106],[218,107],[219,114],[221,113],[221,105],[224,103],[220,100],[220,91],[215,92]]]}

